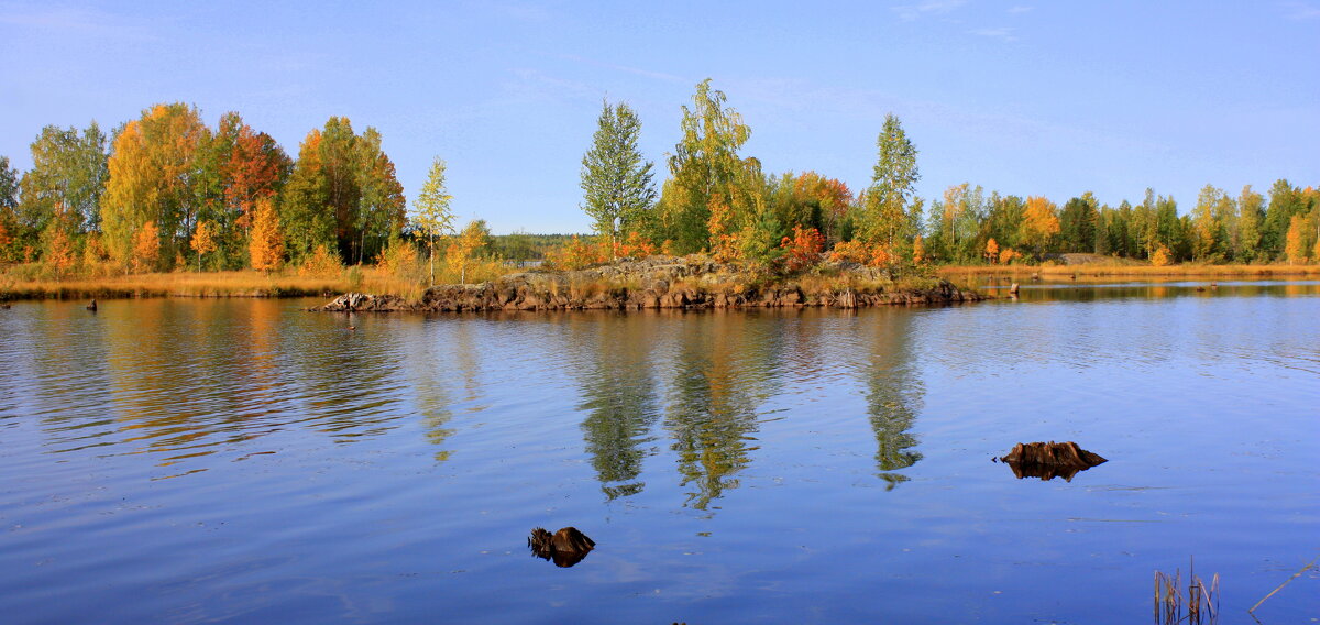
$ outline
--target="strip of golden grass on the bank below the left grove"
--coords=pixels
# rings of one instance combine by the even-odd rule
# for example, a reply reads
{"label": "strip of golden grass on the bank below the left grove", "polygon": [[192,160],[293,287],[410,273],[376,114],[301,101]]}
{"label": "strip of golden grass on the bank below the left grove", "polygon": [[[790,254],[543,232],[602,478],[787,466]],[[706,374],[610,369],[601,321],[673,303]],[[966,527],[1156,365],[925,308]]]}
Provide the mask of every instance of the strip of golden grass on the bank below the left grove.
{"label": "strip of golden grass on the bank below the left grove", "polygon": [[305,276],[260,271],[132,274],[65,280],[0,276],[0,300],[117,297],[304,297],[370,291],[420,297],[422,285],[378,268],[350,267],[335,275]]}

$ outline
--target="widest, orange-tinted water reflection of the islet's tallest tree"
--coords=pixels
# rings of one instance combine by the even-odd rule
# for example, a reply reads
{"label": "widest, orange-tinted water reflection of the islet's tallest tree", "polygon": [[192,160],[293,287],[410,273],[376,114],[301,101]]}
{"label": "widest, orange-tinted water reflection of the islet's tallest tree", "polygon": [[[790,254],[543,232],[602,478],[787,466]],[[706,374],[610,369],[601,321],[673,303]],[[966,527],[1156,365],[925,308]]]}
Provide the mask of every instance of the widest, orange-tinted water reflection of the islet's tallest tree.
{"label": "widest, orange-tinted water reflection of the islet's tallest tree", "polygon": [[[696,485],[688,503],[705,510],[750,461],[756,406],[777,365],[777,337],[751,336],[758,320],[713,313],[685,320],[675,363],[667,424],[678,452],[682,485]],[[771,333],[774,334],[774,333]]]}

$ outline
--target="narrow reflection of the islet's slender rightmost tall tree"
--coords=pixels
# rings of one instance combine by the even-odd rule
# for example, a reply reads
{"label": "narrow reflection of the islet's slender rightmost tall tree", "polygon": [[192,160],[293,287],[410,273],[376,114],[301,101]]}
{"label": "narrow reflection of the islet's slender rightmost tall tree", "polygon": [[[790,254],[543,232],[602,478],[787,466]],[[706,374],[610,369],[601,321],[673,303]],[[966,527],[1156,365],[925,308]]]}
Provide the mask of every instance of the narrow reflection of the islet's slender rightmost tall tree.
{"label": "narrow reflection of the islet's slender rightmost tall tree", "polygon": [[911,451],[917,440],[908,429],[921,411],[925,387],[917,378],[912,353],[912,313],[878,309],[875,314],[874,322],[867,324],[873,336],[866,366],[866,406],[875,429],[879,476],[888,482],[886,490],[892,490],[909,480],[898,472],[921,460],[920,452]]}

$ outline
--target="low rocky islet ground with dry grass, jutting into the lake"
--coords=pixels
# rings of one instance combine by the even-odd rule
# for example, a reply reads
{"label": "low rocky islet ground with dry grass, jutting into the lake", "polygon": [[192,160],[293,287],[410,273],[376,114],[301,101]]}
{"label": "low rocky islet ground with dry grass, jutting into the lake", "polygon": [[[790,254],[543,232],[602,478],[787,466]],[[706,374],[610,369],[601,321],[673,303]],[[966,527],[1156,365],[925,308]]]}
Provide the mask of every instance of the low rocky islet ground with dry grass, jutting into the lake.
{"label": "low rocky islet ground with dry grass, jutting into the lake", "polygon": [[408,301],[346,293],[317,312],[642,311],[954,304],[987,299],[948,280],[894,280],[888,270],[836,263],[795,279],[693,258],[620,260],[581,271],[529,271],[482,284],[442,284]]}

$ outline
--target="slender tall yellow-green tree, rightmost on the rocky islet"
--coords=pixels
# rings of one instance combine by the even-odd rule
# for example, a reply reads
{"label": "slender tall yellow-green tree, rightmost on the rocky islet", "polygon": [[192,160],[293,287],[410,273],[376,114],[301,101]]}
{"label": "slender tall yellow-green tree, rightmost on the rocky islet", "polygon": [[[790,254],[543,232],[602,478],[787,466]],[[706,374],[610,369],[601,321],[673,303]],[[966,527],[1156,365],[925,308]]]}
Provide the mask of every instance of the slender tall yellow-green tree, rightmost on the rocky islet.
{"label": "slender tall yellow-green tree, rightmost on the rocky islet", "polygon": [[920,215],[911,209],[921,173],[916,166],[916,147],[896,115],[884,116],[875,145],[879,153],[871,172],[871,186],[862,194],[857,230],[867,243],[892,251],[916,234]]}

